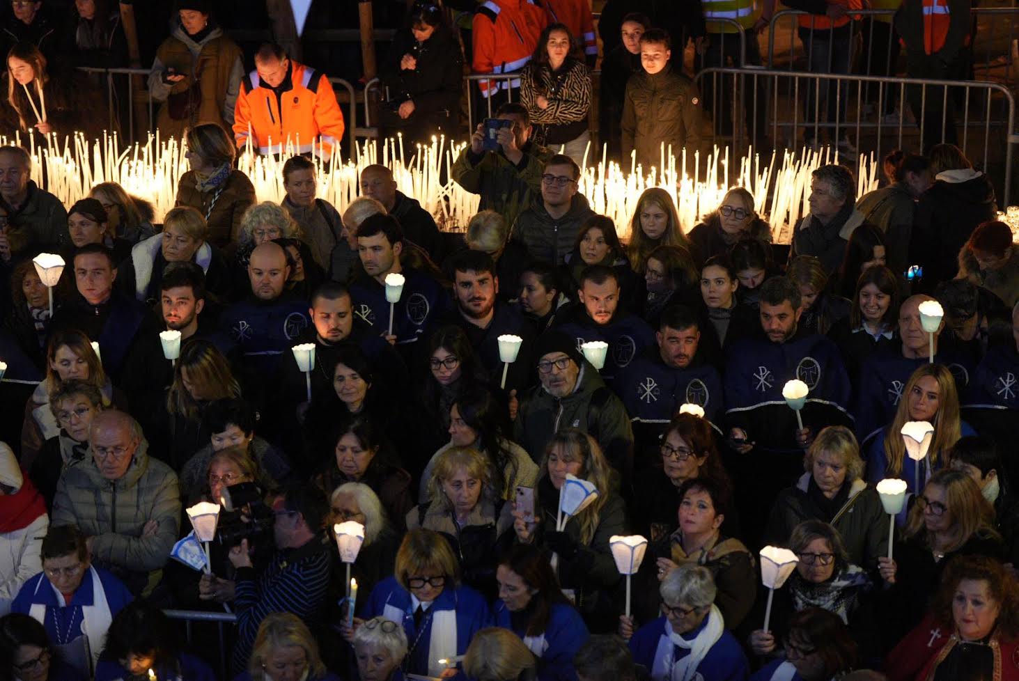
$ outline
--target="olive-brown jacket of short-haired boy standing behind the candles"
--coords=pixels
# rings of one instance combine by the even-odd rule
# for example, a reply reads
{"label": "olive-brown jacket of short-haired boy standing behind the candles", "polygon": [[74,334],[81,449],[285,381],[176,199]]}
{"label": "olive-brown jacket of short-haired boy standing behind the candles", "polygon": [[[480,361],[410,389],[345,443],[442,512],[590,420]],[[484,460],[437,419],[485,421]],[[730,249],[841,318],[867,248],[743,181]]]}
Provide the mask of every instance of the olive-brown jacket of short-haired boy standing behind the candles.
{"label": "olive-brown jacket of short-haired boy standing behind the candles", "polygon": [[700,93],[690,78],[668,65],[653,75],[635,73],[623,103],[623,158],[636,150],[645,173],[661,165],[662,144],[666,154],[672,145],[674,156],[686,148],[692,159],[701,146],[701,124]]}

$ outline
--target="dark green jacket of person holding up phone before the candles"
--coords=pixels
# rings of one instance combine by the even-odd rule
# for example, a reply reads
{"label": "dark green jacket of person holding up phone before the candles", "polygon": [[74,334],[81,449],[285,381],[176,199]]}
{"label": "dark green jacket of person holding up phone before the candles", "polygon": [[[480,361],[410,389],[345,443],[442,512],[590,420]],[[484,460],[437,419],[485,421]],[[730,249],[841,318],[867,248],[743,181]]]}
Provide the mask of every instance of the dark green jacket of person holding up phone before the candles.
{"label": "dark green jacket of person holding up phone before the candles", "polygon": [[533,143],[524,145],[521,151],[524,157],[515,164],[501,149],[475,154],[468,146],[452,166],[457,184],[471,194],[481,195],[478,210],[494,210],[507,224],[513,224],[534,198],[541,196],[541,173],[552,157],[551,151]]}

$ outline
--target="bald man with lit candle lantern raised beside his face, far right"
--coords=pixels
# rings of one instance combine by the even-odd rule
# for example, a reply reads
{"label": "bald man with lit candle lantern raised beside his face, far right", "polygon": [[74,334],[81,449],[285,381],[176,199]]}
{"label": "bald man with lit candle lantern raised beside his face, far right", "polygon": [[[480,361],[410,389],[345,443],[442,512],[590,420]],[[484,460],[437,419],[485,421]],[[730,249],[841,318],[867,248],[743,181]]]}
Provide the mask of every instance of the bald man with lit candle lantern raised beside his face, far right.
{"label": "bald man with lit candle lantern raised beside his face, far right", "polygon": [[895,417],[902,390],[917,367],[929,361],[930,346],[934,348],[934,362],[944,364],[956,378],[959,394],[966,390],[969,377],[975,368],[967,354],[957,348],[940,348],[945,321],[933,334],[920,324],[920,304],[932,301],[929,296],[907,298],[899,308],[900,344],[876,352],[860,367],[856,392],[856,434],[861,449],[869,437],[878,436],[881,429]]}

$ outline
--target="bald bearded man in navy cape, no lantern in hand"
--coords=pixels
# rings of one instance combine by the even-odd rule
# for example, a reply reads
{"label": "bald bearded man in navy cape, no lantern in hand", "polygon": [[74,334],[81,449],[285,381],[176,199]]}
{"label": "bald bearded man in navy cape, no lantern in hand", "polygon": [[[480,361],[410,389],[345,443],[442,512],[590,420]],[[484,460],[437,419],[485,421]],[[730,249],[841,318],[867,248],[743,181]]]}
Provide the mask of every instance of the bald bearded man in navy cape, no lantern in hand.
{"label": "bald bearded man in navy cape, no lantern in hand", "polygon": [[245,356],[245,366],[253,377],[274,375],[279,357],[290,352],[311,324],[308,301],[286,290],[290,267],[283,248],[266,242],[252,251],[248,261],[251,295],[234,303],[219,319]]}

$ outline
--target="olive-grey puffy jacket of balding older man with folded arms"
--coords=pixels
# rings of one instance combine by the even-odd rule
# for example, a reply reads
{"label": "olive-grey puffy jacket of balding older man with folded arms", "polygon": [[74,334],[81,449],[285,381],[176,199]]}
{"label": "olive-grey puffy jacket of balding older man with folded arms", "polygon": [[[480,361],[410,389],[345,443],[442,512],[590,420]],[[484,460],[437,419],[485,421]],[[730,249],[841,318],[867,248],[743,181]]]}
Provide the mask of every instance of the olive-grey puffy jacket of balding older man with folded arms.
{"label": "olive-grey puffy jacket of balding older man with folded arms", "polygon": [[[91,536],[92,557],[120,577],[133,593],[150,590],[179,536],[180,492],[177,475],[149,456],[143,439],[127,472],[107,480],[94,461],[68,468],[57,483],[53,524],[77,525]],[[142,536],[150,520],[155,533]]]}

